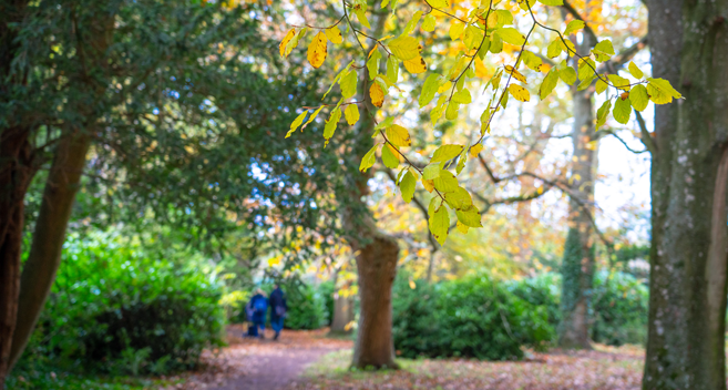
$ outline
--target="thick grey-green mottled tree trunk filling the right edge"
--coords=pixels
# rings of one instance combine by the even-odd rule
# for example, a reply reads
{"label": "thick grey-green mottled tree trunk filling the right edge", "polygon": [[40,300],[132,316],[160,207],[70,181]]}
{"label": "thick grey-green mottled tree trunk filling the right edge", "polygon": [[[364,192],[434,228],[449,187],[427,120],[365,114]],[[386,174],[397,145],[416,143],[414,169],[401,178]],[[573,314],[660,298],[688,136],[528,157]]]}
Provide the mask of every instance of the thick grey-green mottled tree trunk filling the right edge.
{"label": "thick grey-green mottled tree trunk filling the right edge", "polygon": [[653,74],[686,99],[656,107],[643,388],[726,389],[728,0],[649,9]]}

